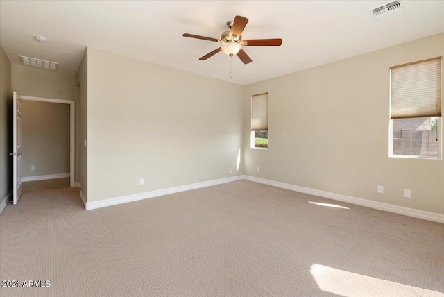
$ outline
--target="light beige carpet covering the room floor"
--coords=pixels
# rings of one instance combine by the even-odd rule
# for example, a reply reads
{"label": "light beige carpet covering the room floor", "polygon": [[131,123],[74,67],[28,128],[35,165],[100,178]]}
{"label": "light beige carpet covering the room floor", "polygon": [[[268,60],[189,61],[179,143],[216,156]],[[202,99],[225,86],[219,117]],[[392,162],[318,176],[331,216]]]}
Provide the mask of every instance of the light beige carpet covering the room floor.
{"label": "light beige carpet covering the room floor", "polygon": [[0,240],[1,280],[51,282],[1,296],[444,296],[443,224],[246,180],[90,211],[23,194]]}

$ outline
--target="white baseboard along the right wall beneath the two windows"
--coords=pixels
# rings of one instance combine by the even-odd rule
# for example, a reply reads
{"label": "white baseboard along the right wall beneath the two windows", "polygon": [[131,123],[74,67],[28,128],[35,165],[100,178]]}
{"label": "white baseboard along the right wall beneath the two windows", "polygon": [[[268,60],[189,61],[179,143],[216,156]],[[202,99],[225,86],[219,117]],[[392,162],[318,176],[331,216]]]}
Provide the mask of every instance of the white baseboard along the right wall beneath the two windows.
{"label": "white baseboard along the right wall beneath the two windows", "polygon": [[404,214],[405,216],[414,217],[418,219],[425,219],[427,221],[434,221],[438,223],[444,223],[444,214],[436,214],[434,212],[425,212],[423,210],[415,210],[413,208],[402,207],[398,205],[392,205],[388,203],[382,203],[377,201],[370,201],[367,199],[356,198],[352,196],[345,196],[341,194],[335,194],[331,192],[325,192],[318,189],[310,189],[308,187],[300,187],[297,185],[290,185],[286,183],[275,182],[274,180],[266,180],[264,178],[255,178],[254,176],[244,176],[244,179],[250,180],[255,183],[262,183],[264,185],[271,185],[274,187],[280,187],[282,189],[289,189],[291,191],[301,192],[310,195],[321,196],[324,198],[330,198],[337,201],[343,201],[347,203],[362,205],[377,210],[385,210],[386,212],[394,212],[395,214]]}

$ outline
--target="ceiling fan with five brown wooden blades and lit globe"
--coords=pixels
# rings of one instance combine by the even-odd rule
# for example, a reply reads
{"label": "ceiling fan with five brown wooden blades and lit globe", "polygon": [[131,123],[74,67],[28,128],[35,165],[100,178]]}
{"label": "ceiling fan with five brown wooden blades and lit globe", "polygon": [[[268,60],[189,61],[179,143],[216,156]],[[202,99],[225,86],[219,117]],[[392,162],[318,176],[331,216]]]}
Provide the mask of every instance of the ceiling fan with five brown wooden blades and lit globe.
{"label": "ceiling fan with five brown wooden blades and lit globe", "polygon": [[201,40],[209,40],[212,42],[221,42],[221,47],[215,49],[210,53],[207,53],[199,60],[207,60],[207,58],[214,56],[216,53],[219,53],[219,51],[223,51],[229,56],[237,55],[239,59],[244,62],[244,64],[248,64],[253,60],[251,60],[247,53],[242,49],[242,46],[280,46],[282,44],[282,39],[280,38],[243,40],[242,31],[244,31],[247,23],[248,19],[246,17],[241,17],[240,15],[237,15],[236,17],[234,17],[234,21],[227,22],[227,26],[228,28],[230,28],[230,31],[225,31],[224,33],[222,33],[220,40],[212,37],[205,37],[188,33],[185,33],[183,36]]}

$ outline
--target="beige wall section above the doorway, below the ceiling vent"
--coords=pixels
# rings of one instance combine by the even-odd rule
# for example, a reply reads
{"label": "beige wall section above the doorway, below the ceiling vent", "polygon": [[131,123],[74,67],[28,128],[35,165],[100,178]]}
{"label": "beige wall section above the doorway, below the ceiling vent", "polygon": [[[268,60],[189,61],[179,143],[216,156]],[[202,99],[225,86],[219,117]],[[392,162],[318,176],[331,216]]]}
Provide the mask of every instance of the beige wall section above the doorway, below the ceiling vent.
{"label": "beige wall section above the doorway, below the ceiling vent", "polygon": [[21,64],[12,65],[12,90],[19,95],[76,100],[76,76]]}

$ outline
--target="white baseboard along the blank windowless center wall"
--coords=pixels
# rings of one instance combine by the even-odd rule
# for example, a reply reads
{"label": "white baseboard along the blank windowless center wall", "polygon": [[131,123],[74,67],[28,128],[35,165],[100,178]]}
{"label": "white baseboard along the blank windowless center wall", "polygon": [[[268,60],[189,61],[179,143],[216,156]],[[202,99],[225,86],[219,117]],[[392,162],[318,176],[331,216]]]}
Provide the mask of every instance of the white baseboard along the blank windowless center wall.
{"label": "white baseboard along the blank windowless center wall", "polygon": [[189,191],[191,189],[199,189],[201,187],[210,187],[213,185],[220,185],[223,183],[231,183],[231,182],[234,182],[237,180],[243,180],[243,179],[244,179],[244,176],[232,176],[230,178],[221,178],[219,180],[209,180],[207,182],[195,183],[195,184],[191,184],[191,185],[182,185],[179,187],[170,187],[168,189],[158,189],[155,191],[144,192],[144,193],[128,195],[128,196],[121,196],[121,197],[116,197],[116,198],[110,198],[110,199],[105,199],[105,200],[101,200],[101,201],[86,202],[85,209],[86,210],[94,210],[94,209],[100,208],[100,207],[117,205],[117,204],[121,204],[121,203],[128,203],[128,202],[153,198],[153,197],[157,197],[157,196],[164,196],[167,194]]}

